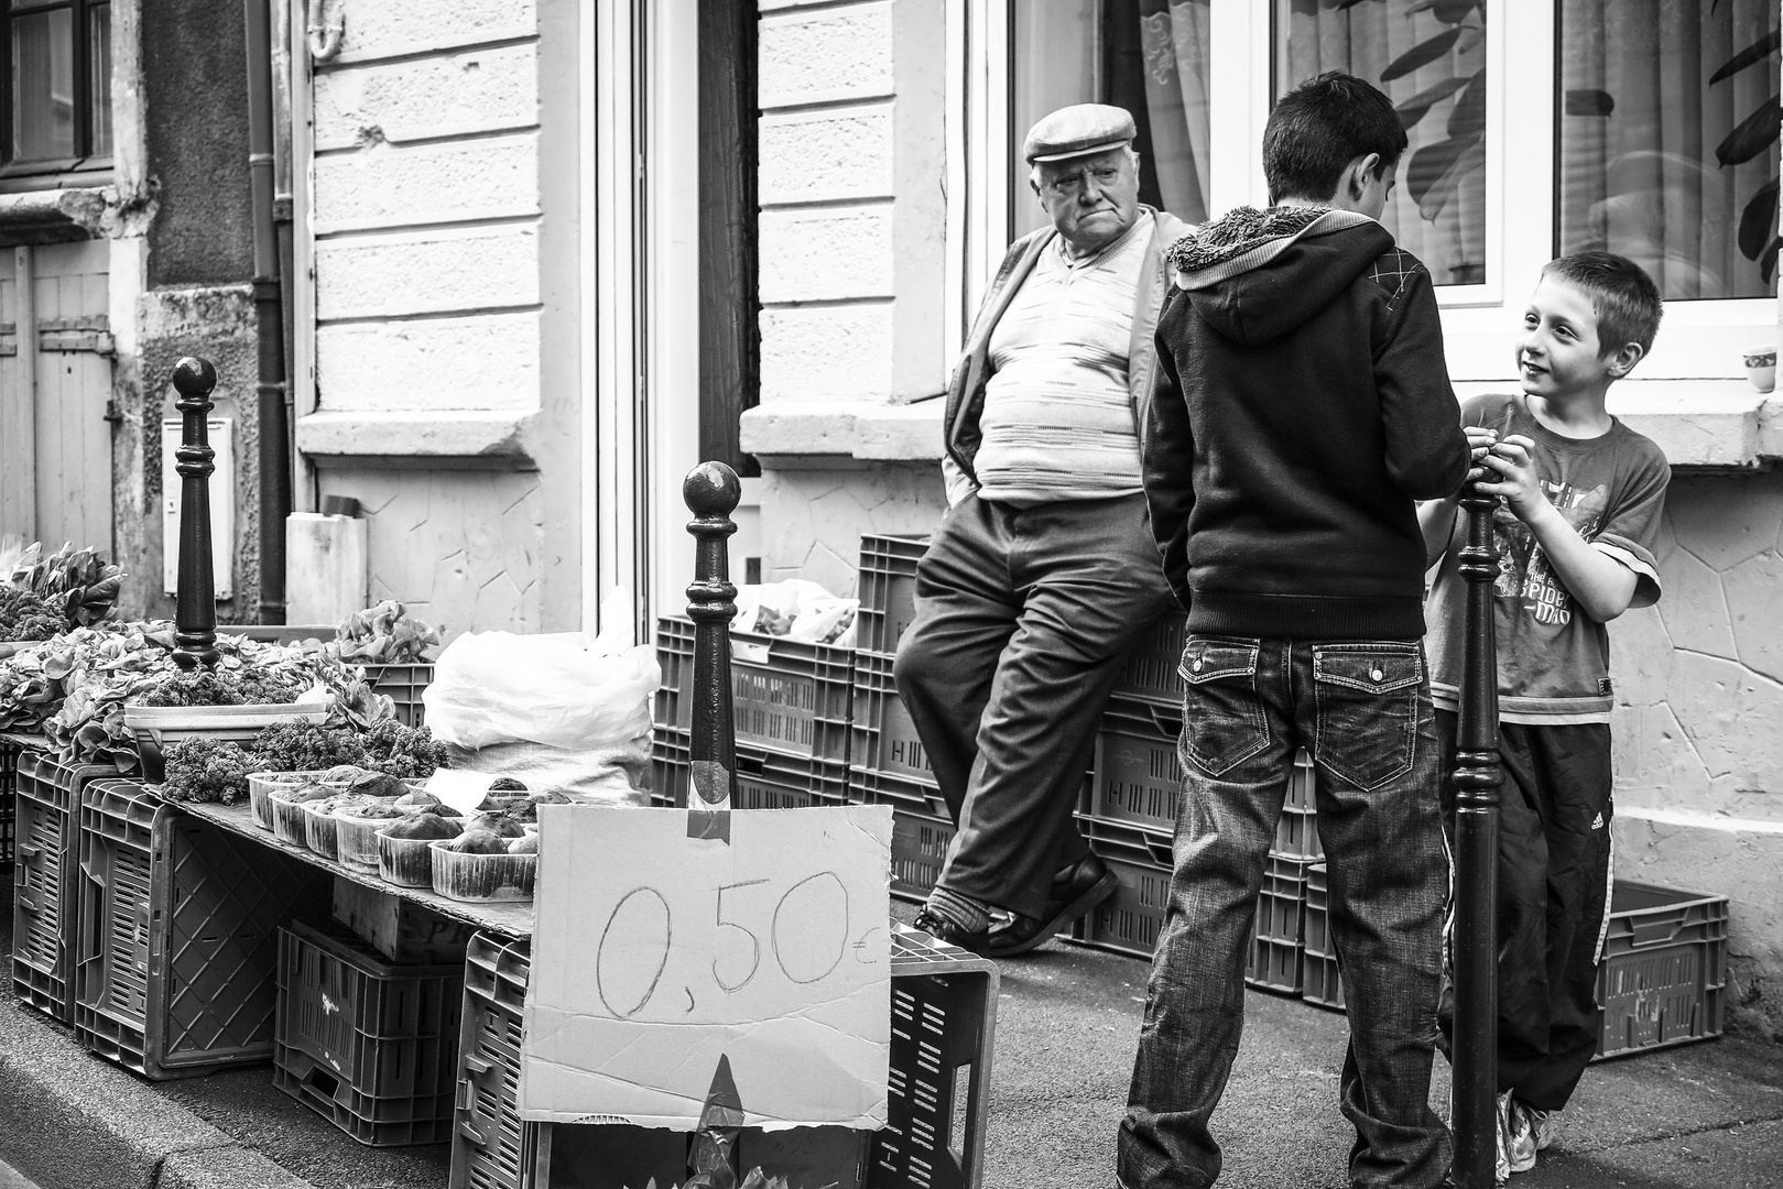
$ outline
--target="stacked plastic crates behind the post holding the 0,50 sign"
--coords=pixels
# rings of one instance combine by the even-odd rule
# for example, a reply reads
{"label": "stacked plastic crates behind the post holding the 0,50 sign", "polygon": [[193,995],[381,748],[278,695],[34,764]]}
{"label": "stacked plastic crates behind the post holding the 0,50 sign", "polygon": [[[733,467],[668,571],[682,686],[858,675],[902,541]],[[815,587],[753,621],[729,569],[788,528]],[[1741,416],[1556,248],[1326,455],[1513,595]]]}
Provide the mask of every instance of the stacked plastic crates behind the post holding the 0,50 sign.
{"label": "stacked plastic crates behind the post holding the 0,50 sign", "polygon": [[[692,774],[694,622],[656,620],[654,799],[685,806]],[[731,633],[736,808],[845,804],[854,651]]]}

